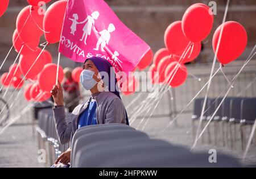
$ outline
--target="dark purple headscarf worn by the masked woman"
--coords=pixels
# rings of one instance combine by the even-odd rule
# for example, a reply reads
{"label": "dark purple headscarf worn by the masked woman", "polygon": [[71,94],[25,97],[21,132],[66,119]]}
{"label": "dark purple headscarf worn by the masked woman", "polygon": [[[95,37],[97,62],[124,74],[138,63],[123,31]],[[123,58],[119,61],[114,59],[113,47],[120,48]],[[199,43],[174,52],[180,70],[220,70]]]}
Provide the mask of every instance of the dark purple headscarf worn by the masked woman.
{"label": "dark purple headscarf worn by the masked woman", "polygon": [[[106,73],[108,73],[108,75],[109,75],[109,81],[108,81],[108,88],[109,88],[109,91],[110,91],[111,93],[114,93],[115,95],[117,95],[118,98],[121,99],[120,94],[119,94],[119,90],[117,90],[117,89],[115,89],[115,88],[114,88],[114,91],[110,90],[110,86],[113,85],[113,84],[111,84],[112,82],[115,82],[115,84],[117,84],[117,78],[115,77],[115,75],[114,75],[114,78],[115,78],[115,79],[114,79],[114,80],[111,79],[111,77],[113,77],[113,76],[111,75],[111,73],[112,73],[112,74],[115,74],[115,73],[113,72],[112,65],[111,65],[107,60],[105,60],[105,59],[103,59],[103,58],[101,58],[101,57],[90,57],[89,59],[86,59],[85,62],[86,62],[87,60],[92,60],[93,64],[96,66],[96,68],[98,69],[98,72],[99,72],[99,73],[100,73],[100,72],[106,72]],[[84,63],[85,63],[85,62],[84,62]],[[111,71],[112,71],[112,72],[111,72]],[[105,81],[104,79],[102,79],[102,80]],[[114,84],[114,86],[115,86],[115,84]],[[121,99],[121,100],[122,100],[122,99]],[[126,114],[126,124],[129,125],[129,120],[128,120],[128,116],[127,116],[126,110],[125,110],[125,114]]]}

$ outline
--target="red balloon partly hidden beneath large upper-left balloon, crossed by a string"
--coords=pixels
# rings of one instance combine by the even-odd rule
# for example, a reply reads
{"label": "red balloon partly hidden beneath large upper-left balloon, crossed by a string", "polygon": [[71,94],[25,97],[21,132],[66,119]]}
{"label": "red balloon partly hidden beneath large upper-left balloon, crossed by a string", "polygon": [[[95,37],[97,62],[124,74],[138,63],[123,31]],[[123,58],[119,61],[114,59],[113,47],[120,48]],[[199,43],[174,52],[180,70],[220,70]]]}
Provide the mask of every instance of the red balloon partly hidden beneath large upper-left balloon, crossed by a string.
{"label": "red balloon partly hidden beneath large upper-left balloon, crossed by a string", "polygon": [[23,45],[22,51],[20,52],[20,54],[22,55],[26,53],[30,53],[31,51],[36,51],[36,47],[38,47],[39,41],[40,41],[40,38],[35,38],[32,41],[24,43],[22,39],[20,39],[17,30],[15,30],[13,33],[13,45],[14,45],[15,51],[19,53]]}

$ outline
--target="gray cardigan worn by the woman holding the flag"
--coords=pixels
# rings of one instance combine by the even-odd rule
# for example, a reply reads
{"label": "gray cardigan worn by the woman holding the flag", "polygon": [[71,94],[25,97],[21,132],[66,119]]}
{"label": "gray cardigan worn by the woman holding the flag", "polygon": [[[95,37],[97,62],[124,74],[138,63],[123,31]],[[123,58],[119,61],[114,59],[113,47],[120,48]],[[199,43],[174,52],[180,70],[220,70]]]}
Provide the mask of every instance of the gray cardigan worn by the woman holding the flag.
{"label": "gray cardigan worn by the woman holding the flag", "polygon": [[[97,103],[97,124],[126,124],[125,106],[117,95],[109,91],[102,91],[92,95],[92,98]],[[89,101],[78,105],[69,116],[65,115],[63,106],[53,108],[57,135],[61,144],[66,144],[72,140],[79,124],[79,116],[86,110],[88,103]]]}

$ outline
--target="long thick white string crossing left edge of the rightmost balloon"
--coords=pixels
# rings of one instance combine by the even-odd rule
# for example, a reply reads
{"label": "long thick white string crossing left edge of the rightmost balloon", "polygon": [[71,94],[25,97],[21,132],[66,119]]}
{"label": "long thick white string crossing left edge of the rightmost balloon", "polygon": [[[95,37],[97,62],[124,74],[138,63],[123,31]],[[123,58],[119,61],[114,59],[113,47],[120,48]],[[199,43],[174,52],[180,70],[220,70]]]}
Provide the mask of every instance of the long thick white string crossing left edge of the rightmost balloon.
{"label": "long thick white string crossing left edge of the rightmost balloon", "polygon": [[[226,21],[226,15],[228,13],[228,9],[229,9],[229,0],[226,3],[226,9],[225,9],[224,17],[223,17],[223,20],[222,20],[222,24],[224,24],[225,21]],[[199,136],[199,133],[200,133],[201,123],[202,123],[202,120],[203,120],[203,113],[204,113],[205,105],[206,105],[206,102],[207,102],[207,97],[208,97],[208,93],[209,93],[209,89],[210,89],[210,84],[212,82],[212,78],[211,77],[212,77],[214,66],[215,66],[215,63],[216,63],[216,60],[217,60],[217,54],[218,54],[218,49],[220,48],[220,41],[221,41],[221,38],[222,38],[223,30],[224,30],[224,26],[221,27],[220,36],[218,37],[217,49],[216,49],[216,53],[214,54],[214,59],[213,59],[213,63],[212,63],[212,69],[210,71],[210,80],[209,80],[209,83],[208,83],[208,86],[207,86],[207,91],[205,93],[203,108],[202,108],[201,115],[200,115],[200,120],[199,120],[199,126],[197,127],[196,138],[195,138],[195,141],[193,143],[192,148],[196,147],[197,137]]]}

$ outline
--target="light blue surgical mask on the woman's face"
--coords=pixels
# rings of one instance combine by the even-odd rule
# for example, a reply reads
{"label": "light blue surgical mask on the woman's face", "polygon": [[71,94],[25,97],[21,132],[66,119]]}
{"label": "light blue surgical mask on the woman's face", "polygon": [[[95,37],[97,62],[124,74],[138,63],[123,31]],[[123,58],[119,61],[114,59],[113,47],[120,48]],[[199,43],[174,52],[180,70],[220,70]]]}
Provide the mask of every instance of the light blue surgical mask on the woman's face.
{"label": "light blue surgical mask on the woman's face", "polygon": [[97,81],[93,78],[94,74],[95,73],[91,70],[82,70],[80,74],[80,82],[86,90],[92,89],[93,86],[97,84]]}

